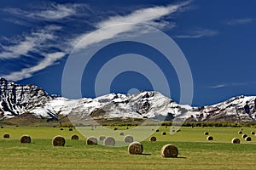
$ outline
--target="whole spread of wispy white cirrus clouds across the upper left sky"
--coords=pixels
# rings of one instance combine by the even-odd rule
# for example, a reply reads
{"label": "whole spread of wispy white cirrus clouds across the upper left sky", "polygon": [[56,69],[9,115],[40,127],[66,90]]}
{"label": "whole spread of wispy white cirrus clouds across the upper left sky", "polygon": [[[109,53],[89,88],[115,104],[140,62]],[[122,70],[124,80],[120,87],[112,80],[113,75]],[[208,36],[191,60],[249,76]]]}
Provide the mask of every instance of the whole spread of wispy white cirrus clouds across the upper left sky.
{"label": "whole spread of wispy white cirrus clouds across the upper left sky", "polygon": [[[97,29],[104,28],[106,26],[119,25],[124,23],[133,23],[131,26],[121,26],[118,29],[102,29],[97,37],[90,39],[90,41],[84,42],[83,47],[93,45],[97,42],[102,42],[109,38],[114,38],[120,34],[125,34],[129,31],[137,31],[140,29],[137,24],[147,24],[149,26],[156,26],[159,28],[165,26],[175,26],[165,20],[165,16],[173,14],[186,7],[190,1],[184,3],[171,4],[168,6],[155,6],[151,8],[141,8],[135,11],[131,11],[128,14],[112,15],[105,20],[90,23],[90,31],[87,29],[80,29],[79,32],[74,31],[77,26],[85,26],[88,23],[84,22],[86,18],[78,17],[87,11],[81,10],[87,8],[86,4],[50,4],[47,7],[40,8],[40,10],[21,10],[19,8],[5,8],[9,14],[14,14],[19,18],[19,23],[26,24],[26,21],[40,23],[38,29],[33,29],[30,33],[23,34],[12,42],[15,38],[9,38],[8,45],[0,43],[0,60],[21,59],[22,57],[35,57],[30,56],[36,54],[41,56],[41,60],[33,65],[29,64],[21,68],[20,71],[11,71],[8,74],[0,75],[6,77],[9,80],[18,81],[24,78],[32,77],[38,71],[42,71],[50,65],[67,56],[71,49],[79,42],[83,37],[90,34]],[[84,8],[83,8],[84,7]],[[86,13],[87,14],[87,13]],[[86,15],[85,14],[85,15]],[[73,17],[73,20],[69,20]],[[83,19],[81,19],[83,18]],[[90,16],[89,18],[90,19]],[[68,21],[67,25],[63,25],[59,20]],[[10,20],[11,21],[11,20]],[[40,21],[43,21],[42,23]],[[45,22],[46,21],[46,22]],[[54,22],[53,25],[51,22]],[[16,23],[16,24],[19,24]],[[85,23],[85,24],[84,24]],[[43,26],[42,26],[43,24]],[[58,25],[60,24],[60,25]],[[83,25],[84,24],[84,25]],[[86,26],[85,26],[86,28]],[[91,30],[91,28],[93,28]],[[70,31],[72,30],[72,31]],[[85,30],[85,31],[84,31]],[[52,50],[53,48],[53,50]],[[23,62],[23,61],[22,61]]]}

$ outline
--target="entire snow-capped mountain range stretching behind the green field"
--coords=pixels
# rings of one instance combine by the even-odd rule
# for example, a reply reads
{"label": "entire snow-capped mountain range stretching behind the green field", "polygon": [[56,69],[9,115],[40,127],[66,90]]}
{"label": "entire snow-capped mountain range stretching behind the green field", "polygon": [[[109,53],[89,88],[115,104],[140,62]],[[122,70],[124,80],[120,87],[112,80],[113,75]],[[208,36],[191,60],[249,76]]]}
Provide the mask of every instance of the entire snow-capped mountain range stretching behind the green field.
{"label": "entire snow-capped mountain range stretching behind the green field", "polygon": [[[29,113],[37,117],[58,119],[58,116],[79,119],[151,118],[156,120],[182,120],[189,122],[254,122],[255,96],[238,96],[216,105],[191,107],[178,105],[158,92],[139,94],[107,94],[96,99],[65,99],[53,97],[34,85],[18,85],[0,79],[1,119]],[[243,111],[248,105],[251,114]]]}

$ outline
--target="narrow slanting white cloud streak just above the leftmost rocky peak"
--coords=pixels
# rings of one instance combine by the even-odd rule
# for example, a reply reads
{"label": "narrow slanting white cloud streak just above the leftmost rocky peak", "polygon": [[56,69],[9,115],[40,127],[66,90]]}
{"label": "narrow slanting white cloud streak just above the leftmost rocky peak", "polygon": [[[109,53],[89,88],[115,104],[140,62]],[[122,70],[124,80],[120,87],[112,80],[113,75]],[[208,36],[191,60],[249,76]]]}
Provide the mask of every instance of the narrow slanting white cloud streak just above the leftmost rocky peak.
{"label": "narrow slanting white cloud streak just above the leftmost rocky peak", "polygon": [[53,65],[55,63],[55,61],[63,58],[65,55],[66,54],[62,53],[62,52],[45,54],[44,59],[42,61],[40,61],[40,63],[38,65],[34,65],[32,67],[22,69],[21,71],[15,71],[9,75],[5,75],[2,77],[5,77],[6,79],[12,80],[12,81],[18,81],[18,80],[22,80],[24,78],[32,77],[32,75],[35,72],[44,70],[49,65]]}

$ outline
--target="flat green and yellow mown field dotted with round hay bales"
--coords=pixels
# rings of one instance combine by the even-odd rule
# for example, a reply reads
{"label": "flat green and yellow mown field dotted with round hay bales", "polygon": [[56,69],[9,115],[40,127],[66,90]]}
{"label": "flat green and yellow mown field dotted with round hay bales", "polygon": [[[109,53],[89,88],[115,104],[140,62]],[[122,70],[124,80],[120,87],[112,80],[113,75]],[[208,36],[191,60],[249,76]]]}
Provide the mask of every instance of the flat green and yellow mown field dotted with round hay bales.
{"label": "flat green and yellow mown field dotted with round hay bales", "polygon": [[[150,129],[154,127],[150,127]],[[0,128],[1,169],[255,169],[256,136],[255,128],[242,127],[181,127],[178,133],[170,134],[170,127],[160,127],[154,133],[156,142],[145,139],[143,155],[129,155],[127,146],[109,147],[87,145],[83,135],[76,129],[69,131],[63,127],[3,127]],[[125,133],[125,129],[115,133]],[[162,135],[166,132],[166,135]],[[204,133],[213,137],[207,140]],[[3,135],[9,133],[9,139]],[[143,133],[143,132],[140,132]],[[246,133],[252,141],[245,141],[241,135]],[[31,136],[30,144],[20,144],[24,134]],[[79,140],[71,140],[73,134]],[[101,133],[103,134],[103,133]],[[126,133],[125,133],[126,134]],[[61,135],[66,144],[53,146],[52,139]],[[233,138],[241,144],[231,144]],[[134,140],[136,141],[136,137]],[[174,144],[178,149],[177,158],[163,158],[160,150],[165,144]]]}

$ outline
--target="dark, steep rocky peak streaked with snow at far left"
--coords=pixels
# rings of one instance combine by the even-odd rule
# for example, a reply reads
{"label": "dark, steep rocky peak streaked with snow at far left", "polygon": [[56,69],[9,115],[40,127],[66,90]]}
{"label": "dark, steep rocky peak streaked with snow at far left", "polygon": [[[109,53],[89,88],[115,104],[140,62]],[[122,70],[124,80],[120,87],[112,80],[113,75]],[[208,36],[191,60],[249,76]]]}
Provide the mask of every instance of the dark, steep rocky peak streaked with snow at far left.
{"label": "dark, steep rocky peak streaked with snow at far left", "polygon": [[42,88],[19,85],[0,78],[0,112],[2,117],[19,116],[52,99]]}

